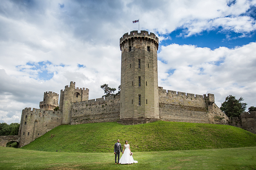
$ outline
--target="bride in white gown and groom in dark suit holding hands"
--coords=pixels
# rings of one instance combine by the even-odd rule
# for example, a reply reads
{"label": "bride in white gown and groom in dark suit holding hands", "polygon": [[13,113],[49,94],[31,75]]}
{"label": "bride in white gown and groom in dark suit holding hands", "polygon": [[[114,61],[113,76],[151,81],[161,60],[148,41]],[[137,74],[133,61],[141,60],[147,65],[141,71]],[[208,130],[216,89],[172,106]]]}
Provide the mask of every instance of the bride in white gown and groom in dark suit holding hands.
{"label": "bride in white gown and groom in dark suit holding hands", "polygon": [[[121,143],[119,143],[119,139],[117,140],[117,143],[114,145],[114,154],[115,154],[115,163],[118,164],[132,164],[132,163],[138,163],[138,161],[134,161],[132,157],[132,152],[130,149],[130,145],[128,144],[128,141],[125,141],[124,145],[124,151],[122,150]],[[122,157],[120,158],[120,152],[122,151]],[[118,156],[118,160],[116,162],[116,157]]]}

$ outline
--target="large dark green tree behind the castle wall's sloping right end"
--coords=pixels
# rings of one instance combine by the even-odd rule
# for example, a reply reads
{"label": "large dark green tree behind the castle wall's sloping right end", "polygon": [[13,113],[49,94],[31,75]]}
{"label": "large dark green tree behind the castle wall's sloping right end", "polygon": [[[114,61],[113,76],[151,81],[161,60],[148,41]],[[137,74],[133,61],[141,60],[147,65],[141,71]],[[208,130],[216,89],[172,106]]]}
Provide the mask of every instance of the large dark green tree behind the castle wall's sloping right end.
{"label": "large dark green tree behind the castle wall's sloping right end", "polygon": [[237,100],[235,96],[229,95],[221,104],[220,109],[229,117],[239,116],[246,109],[247,103],[242,103],[243,100],[242,97]]}

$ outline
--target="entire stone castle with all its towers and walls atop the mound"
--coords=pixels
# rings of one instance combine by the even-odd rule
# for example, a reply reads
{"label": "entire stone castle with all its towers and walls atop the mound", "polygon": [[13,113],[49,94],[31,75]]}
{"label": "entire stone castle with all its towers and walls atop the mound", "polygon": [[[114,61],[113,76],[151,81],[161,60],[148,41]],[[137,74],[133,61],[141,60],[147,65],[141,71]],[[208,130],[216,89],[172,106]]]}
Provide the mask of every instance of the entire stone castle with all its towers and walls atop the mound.
{"label": "entire stone castle with all its towers and walls atop the mound", "polygon": [[256,112],[245,112],[233,121],[214,103],[213,94],[195,95],[158,87],[158,37],[154,33],[125,33],[120,38],[120,50],[120,95],[88,100],[89,89],[76,88],[75,82],[60,91],[60,102],[59,94],[45,92],[44,100],[39,103],[40,109],[22,110],[19,135],[0,137],[0,145],[17,141],[22,147],[61,124],[94,122],[127,125],[156,120],[231,123],[256,134]]}

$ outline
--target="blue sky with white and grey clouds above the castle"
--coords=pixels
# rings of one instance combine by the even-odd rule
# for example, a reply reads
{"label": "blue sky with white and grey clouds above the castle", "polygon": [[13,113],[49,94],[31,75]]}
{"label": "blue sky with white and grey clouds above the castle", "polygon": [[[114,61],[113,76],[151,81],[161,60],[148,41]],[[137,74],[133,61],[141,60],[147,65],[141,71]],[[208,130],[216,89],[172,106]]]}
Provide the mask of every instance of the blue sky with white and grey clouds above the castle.
{"label": "blue sky with white and grey clouds above the castle", "polygon": [[0,123],[71,81],[89,99],[117,88],[119,39],[139,28],[159,38],[158,86],[256,107],[256,0],[1,0]]}

